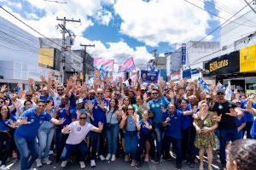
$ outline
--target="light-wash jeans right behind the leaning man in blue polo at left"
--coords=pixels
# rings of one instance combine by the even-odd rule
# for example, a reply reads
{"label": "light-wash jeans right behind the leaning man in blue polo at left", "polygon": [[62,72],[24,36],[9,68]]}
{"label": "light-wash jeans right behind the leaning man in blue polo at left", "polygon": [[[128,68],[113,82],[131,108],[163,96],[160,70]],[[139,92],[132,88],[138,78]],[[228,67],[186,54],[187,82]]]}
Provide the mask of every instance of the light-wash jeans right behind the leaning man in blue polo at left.
{"label": "light-wash jeans right behind the leaning man in blue polo at left", "polygon": [[[50,144],[55,134],[55,127],[39,128],[39,158],[44,159],[49,156]],[[44,156],[43,156],[44,153]]]}

